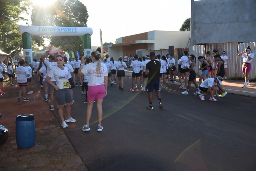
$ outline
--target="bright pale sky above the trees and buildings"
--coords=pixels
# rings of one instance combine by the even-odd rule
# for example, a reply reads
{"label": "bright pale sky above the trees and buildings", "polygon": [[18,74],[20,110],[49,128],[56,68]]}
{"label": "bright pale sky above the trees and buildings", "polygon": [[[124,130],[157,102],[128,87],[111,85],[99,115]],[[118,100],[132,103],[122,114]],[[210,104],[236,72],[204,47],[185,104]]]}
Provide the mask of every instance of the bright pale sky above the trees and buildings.
{"label": "bright pale sky above the trees and buildings", "polygon": [[[45,5],[54,0],[31,0]],[[112,42],[120,37],[153,30],[179,31],[191,16],[191,0],[80,0],[88,11],[87,27],[91,27],[91,45]],[[22,23],[21,23],[22,24]],[[22,24],[26,25],[26,24]],[[46,45],[49,42],[45,42]]]}

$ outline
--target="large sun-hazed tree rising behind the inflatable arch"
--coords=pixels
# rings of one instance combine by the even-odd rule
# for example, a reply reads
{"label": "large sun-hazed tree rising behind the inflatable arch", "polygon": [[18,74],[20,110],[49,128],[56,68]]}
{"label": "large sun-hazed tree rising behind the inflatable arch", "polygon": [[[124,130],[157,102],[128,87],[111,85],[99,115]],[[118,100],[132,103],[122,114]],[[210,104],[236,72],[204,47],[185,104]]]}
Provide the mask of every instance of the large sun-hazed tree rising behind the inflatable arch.
{"label": "large sun-hazed tree rising behind the inflatable arch", "polygon": [[[51,5],[34,6],[31,15],[32,25],[59,27],[87,27],[89,15],[87,8],[79,0],[57,0]],[[46,36],[33,36],[38,46],[43,44]],[[50,36],[51,45],[65,51],[83,51],[82,36]]]}

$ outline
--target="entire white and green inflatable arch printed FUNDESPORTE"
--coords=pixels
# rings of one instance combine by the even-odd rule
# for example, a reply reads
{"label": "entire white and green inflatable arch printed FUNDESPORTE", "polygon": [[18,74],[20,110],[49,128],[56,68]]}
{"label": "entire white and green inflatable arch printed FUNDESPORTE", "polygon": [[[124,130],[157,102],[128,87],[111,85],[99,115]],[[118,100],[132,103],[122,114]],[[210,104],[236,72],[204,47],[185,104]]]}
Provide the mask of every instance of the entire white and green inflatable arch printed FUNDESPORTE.
{"label": "entire white and green inflatable arch printed FUNDESPORTE", "polygon": [[92,28],[89,27],[52,27],[52,26],[19,26],[22,34],[24,60],[32,62],[31,35],[34,36],[84,36],[84,55],[91,55]]}

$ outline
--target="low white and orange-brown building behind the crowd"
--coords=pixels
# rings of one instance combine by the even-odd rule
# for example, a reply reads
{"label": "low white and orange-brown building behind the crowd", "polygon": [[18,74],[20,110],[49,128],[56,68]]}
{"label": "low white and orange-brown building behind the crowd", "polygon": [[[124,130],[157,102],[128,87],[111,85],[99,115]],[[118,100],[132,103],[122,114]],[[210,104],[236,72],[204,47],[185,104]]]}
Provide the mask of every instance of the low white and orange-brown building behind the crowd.
{"label": "low white and orange-brown building behind the crowd", "polygon": [[117,44],[108,45],[108,54],[116,60],[124,54],[133,55],[138,49],[159,50],[188,47],[190,31],[149,31],[141,34],[121,37]]}

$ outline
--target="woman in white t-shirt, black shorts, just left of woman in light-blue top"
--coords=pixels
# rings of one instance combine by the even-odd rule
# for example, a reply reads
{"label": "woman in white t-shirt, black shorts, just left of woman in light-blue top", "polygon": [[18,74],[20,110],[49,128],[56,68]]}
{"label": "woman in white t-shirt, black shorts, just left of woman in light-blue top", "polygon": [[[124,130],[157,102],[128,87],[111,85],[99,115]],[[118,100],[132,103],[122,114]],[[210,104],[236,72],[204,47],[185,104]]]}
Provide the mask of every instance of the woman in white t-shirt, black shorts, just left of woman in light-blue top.
{"label": "woman in white t-shirt, black shorts, just left of woman in light-blue top", "polygon": [[[180,65],[181,65],[181,67],[180,67],[180,71],[179,71],[178,76],[179,76],[179,80],[180,80],[180,89],[186,90],[187,89],[186,86],[187,86],[187,84],[189,82],[189,80],[188,80],[188,75],[189,75],[189,69],[188,69],[189,68],[189,57],[188,57],[188,55],[189,55],[189,52],[188,51],[184,51],[183,55],[184,56],[182,56],[180,58]],[[185,67],[187,69],[185,69]],[[181,79],[182,74],[184,74],[185,85],[182,83],[182,79]]]}

